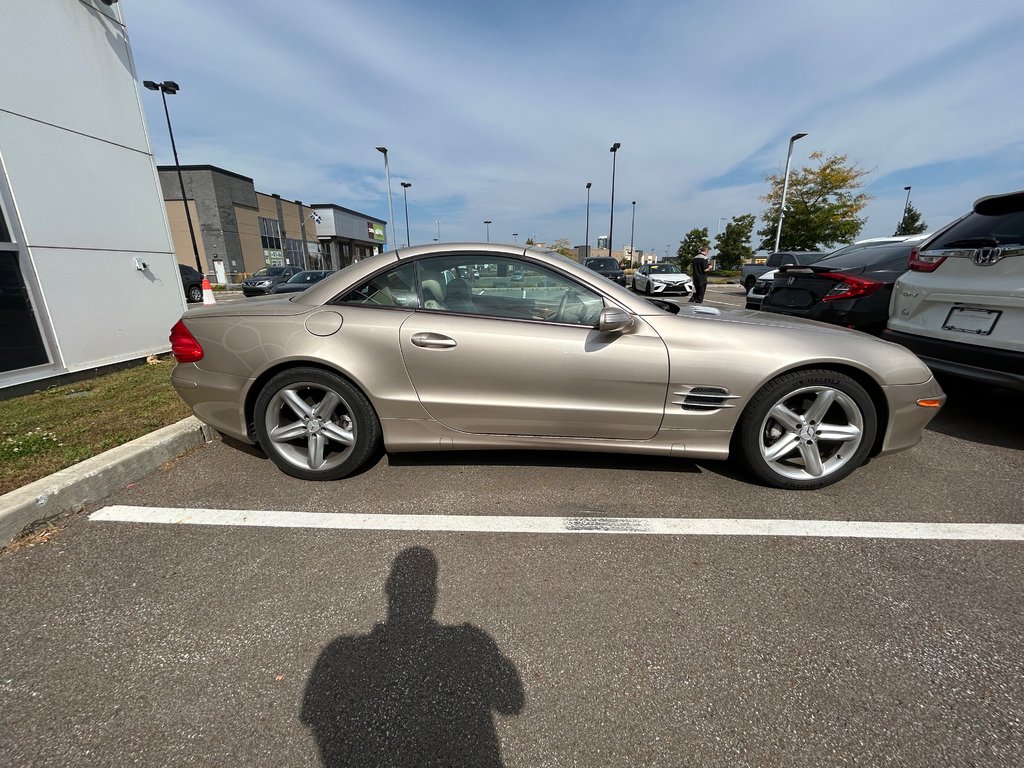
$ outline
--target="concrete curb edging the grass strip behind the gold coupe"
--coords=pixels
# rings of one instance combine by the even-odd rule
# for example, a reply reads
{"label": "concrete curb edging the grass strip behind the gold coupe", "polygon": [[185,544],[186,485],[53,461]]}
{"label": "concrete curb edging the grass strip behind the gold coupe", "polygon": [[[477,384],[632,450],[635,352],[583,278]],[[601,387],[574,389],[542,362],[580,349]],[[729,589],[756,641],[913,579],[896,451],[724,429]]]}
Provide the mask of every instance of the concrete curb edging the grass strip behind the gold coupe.
{"label": "concrete curb edging the grass strip behind the gold coupe", "polygon": [[188,449],[209,442],[215,434],[211,427],[190,416],[0,496],[0,548],[10,544],[30,523],[77,511],[87,502],[102,499]]}

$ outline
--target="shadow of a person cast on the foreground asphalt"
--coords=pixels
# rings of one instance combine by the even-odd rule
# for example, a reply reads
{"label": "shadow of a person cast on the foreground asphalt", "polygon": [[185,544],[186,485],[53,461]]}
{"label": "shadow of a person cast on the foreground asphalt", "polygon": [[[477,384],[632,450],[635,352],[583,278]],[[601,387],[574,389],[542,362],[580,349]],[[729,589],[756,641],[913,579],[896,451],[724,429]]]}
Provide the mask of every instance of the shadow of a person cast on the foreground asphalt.
{"label": "shadow of a person cast on the foreground asphalt", "polygon": [[306,683],[302,722],[327,768],[502,766],[494,713],[522,711],[519,674],[482,630],[433,618],[437,560],[399,553],[387,621],[339,637]]}

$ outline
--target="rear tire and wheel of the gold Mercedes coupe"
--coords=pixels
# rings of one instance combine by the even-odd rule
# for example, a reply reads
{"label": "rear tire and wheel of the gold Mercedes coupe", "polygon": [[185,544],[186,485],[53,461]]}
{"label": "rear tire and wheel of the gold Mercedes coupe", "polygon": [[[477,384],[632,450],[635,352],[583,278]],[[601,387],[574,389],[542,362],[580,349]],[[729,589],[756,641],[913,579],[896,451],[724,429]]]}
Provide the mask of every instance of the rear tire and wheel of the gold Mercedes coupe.
{"label": "rear tire and wheel of the gold Mercedes coupe", "polygon": [[253,418],[270,461],[303,480],[347,477],[382,444],[380,420],[366,395],[316,368],[294,368],[270,379],[256,398]]}

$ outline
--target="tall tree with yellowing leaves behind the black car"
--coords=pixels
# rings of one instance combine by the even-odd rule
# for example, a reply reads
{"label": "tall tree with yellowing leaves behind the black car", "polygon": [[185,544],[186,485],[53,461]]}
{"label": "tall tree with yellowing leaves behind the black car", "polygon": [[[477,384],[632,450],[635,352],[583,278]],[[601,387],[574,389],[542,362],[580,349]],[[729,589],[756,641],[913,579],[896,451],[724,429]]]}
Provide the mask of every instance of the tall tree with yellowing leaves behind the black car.
{"label": "tall tree with yellowing leaves behind the black car", "polygon": [[[825,157],[813,152],[815,166],[805,166],[790,174],[782,219],[781,251],[828,250],[857,239],[866,219],[857,214],[864,210],[869,195],[857,191],[869,171],[849,162],[846,155]],[[782,199],[782,173],[765,177],[771,185],[761,200],[767,204],[761,215],[764,226],[758,230],[760,249],[775,247],[778,204]]]}

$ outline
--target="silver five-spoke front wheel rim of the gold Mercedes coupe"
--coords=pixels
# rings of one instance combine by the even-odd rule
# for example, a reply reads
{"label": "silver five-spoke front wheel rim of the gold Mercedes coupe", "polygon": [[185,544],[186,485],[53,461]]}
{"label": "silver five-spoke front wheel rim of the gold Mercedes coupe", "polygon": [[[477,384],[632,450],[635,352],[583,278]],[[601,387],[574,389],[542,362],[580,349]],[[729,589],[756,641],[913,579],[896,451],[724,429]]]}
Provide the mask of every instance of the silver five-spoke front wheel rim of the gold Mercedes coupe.
{"label": "silver five-spoke front wheel rim of the gold Mercedes coupe", "polygon": [[864,439],[864,417],[850,395],[806,386],[780,397],[761,422],[758,446],[773,472],[809,480],[840,471]]}

